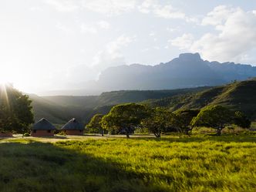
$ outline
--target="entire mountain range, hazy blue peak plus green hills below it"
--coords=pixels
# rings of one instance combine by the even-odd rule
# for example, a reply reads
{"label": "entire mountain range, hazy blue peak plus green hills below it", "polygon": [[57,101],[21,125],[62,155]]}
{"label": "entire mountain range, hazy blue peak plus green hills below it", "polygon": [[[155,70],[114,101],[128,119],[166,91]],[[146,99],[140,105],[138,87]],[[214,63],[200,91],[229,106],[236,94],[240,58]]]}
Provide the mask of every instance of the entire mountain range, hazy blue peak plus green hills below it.
{"label": "entire mountain range, hazy blue peak plus green hills below it", "polygon": [[221,104],[256,119],[254,76],[255,66],[208,62],[198,53],[184,53],[157,66],[133,64],[106,69],[97,82],[90,83],[93,90],[107,90],[97,96],[68,96],[68,90],[66,96],[29,96],[35,120],[45,117],[56,124],[72,117],[87,123],[96,113],[108,113],[112,106],[130,102],[165,106],[172,111]]}

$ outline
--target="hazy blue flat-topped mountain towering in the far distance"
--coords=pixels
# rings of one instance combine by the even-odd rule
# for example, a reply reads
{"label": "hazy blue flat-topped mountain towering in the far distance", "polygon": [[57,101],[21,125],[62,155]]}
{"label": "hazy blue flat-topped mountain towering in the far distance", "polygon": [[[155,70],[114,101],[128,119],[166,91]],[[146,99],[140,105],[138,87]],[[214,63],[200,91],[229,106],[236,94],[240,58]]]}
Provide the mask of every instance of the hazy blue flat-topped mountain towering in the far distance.
{"label": "hazy blue flat-topped mountain towering in the far distance", "polygon": [[180,89],[218,86],[256,76],[256,67],[234,62],[208,62],[198,53],[184,53],[157,66],[116,66],[106,69],[96,83],[100,89]]}

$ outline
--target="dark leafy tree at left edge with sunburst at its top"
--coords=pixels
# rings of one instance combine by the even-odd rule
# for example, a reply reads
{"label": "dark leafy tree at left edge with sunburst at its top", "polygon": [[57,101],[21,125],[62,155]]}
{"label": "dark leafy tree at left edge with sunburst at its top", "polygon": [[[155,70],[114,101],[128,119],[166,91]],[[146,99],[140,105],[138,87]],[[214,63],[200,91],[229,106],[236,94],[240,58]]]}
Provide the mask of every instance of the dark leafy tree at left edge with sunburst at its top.
{"label": "dark leafy tree at left edge with sunburst at its top", "polygon": [[34,122],[32,101],[11,85],[0,86],[0,131],[25,133]]}

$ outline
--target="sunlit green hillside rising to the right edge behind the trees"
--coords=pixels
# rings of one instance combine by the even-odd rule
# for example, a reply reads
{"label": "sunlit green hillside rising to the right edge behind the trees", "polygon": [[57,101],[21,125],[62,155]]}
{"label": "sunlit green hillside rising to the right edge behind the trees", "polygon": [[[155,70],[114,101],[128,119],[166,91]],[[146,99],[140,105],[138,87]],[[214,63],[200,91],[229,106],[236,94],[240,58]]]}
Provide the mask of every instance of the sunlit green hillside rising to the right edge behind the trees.
{"label": "sunlit green hillside rising to the right edge behind the trees", "polygon": [[166,106],[171,110],[200,109],[210,104],[218,104],[241,110],[256,119],[256,79],[235,82],[227,86],[217,86],[199,93],[187,93],[164,99],[150,99],[143,103],[150,106]]}

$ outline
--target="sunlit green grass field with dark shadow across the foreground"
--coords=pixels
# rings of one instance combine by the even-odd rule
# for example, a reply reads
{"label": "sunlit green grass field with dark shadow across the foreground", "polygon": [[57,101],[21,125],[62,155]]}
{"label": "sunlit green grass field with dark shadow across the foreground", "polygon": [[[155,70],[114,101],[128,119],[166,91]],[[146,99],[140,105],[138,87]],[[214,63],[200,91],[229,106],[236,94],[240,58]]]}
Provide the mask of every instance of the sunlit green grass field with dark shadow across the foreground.
{"label": "sunlit green grass field with dark shadow across the foreground", "polygon": [[256,136],[0,142],[0,191],[256,191]]}

